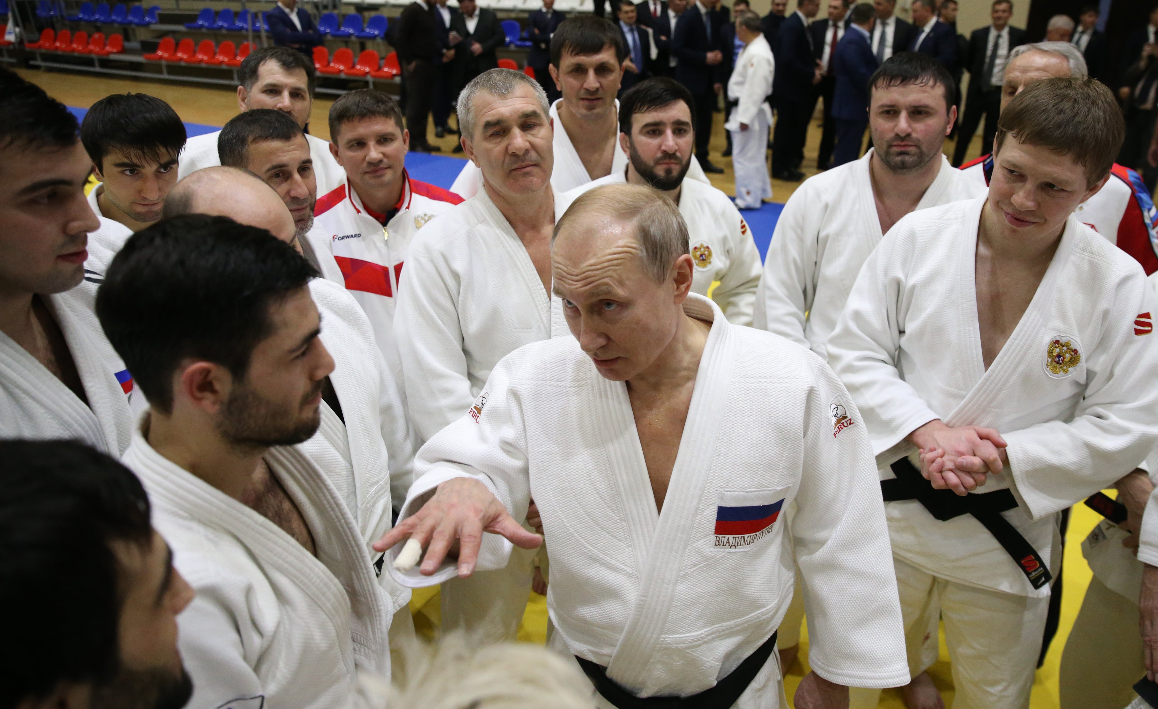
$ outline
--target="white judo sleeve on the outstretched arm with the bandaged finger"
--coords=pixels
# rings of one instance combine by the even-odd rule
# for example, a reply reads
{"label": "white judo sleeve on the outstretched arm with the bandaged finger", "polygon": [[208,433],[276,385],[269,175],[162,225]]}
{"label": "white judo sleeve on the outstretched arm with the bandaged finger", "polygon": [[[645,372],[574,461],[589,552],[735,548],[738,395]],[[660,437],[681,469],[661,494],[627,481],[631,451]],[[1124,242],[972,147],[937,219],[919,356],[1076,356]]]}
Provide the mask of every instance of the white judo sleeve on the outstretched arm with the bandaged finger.
{"label": "white judo sleeve on the outstretched arm with the bandaged finger", "polygon": [[[526,349],[526,348],[523,348]],[[523,433],[520,395],[512,380],[521,368],[522,350],[507,355],[491,372],[475,402],[461,418],[450,423],[418,452],[415,459],[415,484],[411,485],[398,520],[403,520],[430,499],[434,488],[455,477],[472,477],[486,485],[516,520],[527,518],[530,505],[530,478],[527,444]],[[393,547],[388,561],[402,551],[404,542]],[[513,544],[498,534],[484,533],[478,551],[477,570],[492,571],[506,567]],[[422,587],[453,578],[454,560],[444,561],[432,576],[422,576],[418,567],[398,571],[387,563],[390,573],[403,586]]]}

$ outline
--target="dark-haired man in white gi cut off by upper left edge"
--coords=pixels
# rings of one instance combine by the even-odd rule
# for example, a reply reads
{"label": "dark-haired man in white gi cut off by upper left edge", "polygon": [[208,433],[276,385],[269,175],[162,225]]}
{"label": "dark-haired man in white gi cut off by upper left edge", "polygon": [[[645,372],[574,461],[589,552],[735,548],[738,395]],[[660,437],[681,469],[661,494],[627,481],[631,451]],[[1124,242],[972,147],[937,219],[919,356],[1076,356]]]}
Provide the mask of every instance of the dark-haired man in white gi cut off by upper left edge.
{"label": "dark-haired man in white gi cut off by upper left edge", "polygon": [[68,109],[0,70],[0,438],[69,438],[117,456],[145,402],[93,299],[108,244],[131,232],[93,213],[91,169]]}

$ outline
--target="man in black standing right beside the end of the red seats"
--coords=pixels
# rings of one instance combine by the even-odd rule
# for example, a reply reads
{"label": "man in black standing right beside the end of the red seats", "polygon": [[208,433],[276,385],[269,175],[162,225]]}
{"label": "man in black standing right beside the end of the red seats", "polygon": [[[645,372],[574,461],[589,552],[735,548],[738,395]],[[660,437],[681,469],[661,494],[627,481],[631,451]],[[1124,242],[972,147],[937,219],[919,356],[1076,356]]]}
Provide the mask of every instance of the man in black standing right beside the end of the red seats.
{"label": "man in black standing right beside the end of the red seats", "polygon": [[442,59],[437,25],[434,9],[422,0],[416,0],[402,10],[394,44],[406,89],[410,149],[418,153],[437,153],[441,149],[426,139],[426,117],[431,112],[434,96],[434,67]]}

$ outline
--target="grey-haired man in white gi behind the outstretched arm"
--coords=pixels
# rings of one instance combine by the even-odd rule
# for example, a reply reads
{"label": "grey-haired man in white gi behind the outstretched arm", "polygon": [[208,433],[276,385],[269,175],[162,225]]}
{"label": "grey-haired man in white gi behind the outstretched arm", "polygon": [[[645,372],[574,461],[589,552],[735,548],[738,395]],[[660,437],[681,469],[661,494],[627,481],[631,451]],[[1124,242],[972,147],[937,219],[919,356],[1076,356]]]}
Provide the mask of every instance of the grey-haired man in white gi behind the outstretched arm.
{"label": "grey-haired man in white gi behind the outstretched arm", "polygon": [[[550,295],[550,237],[562,210],[550,182],[549,110],[537,81],[506,68],[459,94],[462,145],[482,188],[415,235],[394,315],[410,419],[423,440],[470,407],[512,350],[566,332]],[[516,554],[504,570],[445,584],[442,627],[514,639],[533,558]]]}

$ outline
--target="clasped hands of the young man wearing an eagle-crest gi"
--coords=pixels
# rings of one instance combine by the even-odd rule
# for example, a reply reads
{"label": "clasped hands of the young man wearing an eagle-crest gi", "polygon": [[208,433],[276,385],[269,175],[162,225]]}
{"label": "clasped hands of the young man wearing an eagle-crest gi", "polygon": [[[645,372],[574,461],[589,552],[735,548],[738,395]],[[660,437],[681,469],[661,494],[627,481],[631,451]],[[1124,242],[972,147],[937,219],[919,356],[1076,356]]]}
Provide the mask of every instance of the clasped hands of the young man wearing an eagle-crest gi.
{"label": "clasped hands of the young man wearing an eagle-crest gi", "polygon": [[909,434],[921,451],[921,474],[935,490],[968,495],[985,484],[985,476],[1001,473],[1009,458],[1005,439],[994,429],[950,427],[931,421]]}

